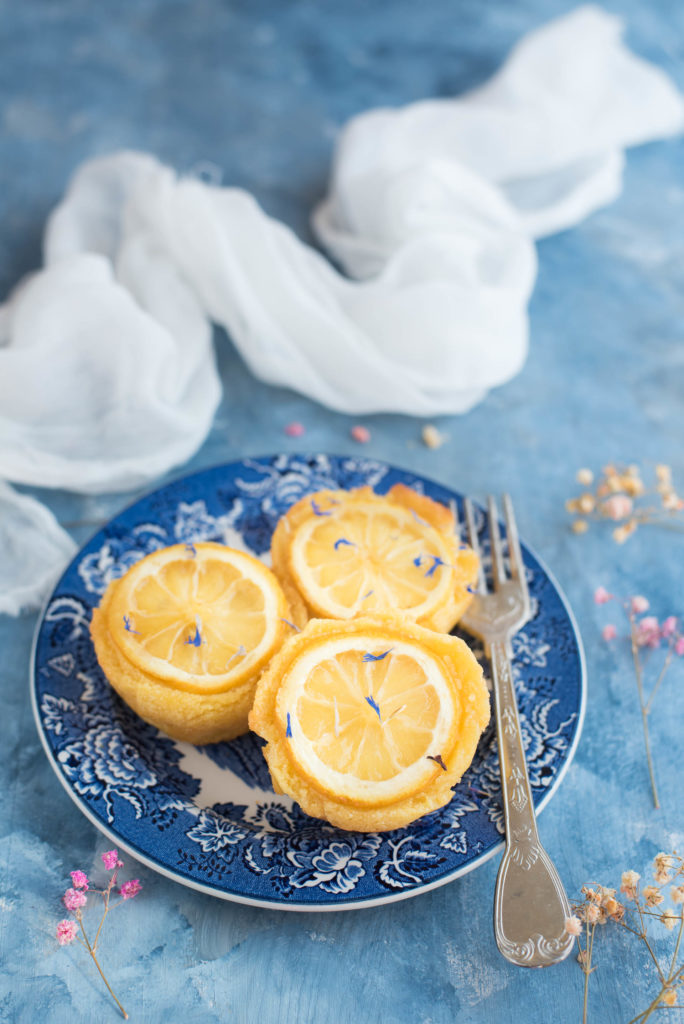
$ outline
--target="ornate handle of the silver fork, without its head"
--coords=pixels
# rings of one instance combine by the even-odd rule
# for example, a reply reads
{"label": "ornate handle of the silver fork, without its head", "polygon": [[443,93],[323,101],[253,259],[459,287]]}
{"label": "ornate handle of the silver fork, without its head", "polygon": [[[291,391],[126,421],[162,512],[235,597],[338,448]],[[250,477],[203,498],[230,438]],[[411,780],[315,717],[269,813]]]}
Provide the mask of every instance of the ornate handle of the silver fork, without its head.
{"label": "ornate handle of the silver fork, without its head", "polygon": [[565,931],[570,907],[540,843],[520,732],[508,641],[489,645],[506,819],[506,850],[497,876],[494,930],[501,953],[520,967],[548,967],[574,944]]}

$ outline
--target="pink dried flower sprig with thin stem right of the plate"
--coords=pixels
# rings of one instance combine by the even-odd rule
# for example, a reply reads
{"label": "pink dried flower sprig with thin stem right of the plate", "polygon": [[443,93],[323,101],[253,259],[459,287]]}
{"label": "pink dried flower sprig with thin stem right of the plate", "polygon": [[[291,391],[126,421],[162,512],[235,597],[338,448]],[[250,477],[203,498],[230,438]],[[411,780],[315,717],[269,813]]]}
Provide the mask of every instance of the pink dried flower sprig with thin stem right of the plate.
{"label": "pink dried flower sprig with thin stem right of the plate", "polygon": [[[617,599],[612,594],[609,594],[605,587],[598,587],[594,593],[594,601],[596,604],[607,604],[608,602]],[[627,600],[619,601],[618,603],[621,603],[624,608],[630,628],[627,639],[630,642],[632,660],[634,663],[637,692],[639,694],[639,707],[641,709],[641,721],[644,731],[646,761],[648,764],[651,790],[653,792],[653,804],[656,808],[658,808],[660,803],[658,801],[657,787],[655,785],[655,772],[653,770],[653,757],[648,731],[648,716],[653,707],[653,699],[660,689],[662,680],[672,665],[673,658],[675,656],[682,657],[684,655],[684,634],[680,631],[679,621],[675,615],[668,615],[667,618],[659,623],[655,615],[644,614],[644,612],[648,611],[649,603],[647,599],[640,594],[630,597]],[[607,626],[603,627],[601,636],[606,643],[610,643],[618,636],[617,627],[613,623],[608,623]],[[646,671],[647,665],[646,659],[644,658],[644,652],[647,651],[650,653],[656,648],[665,649],[665,657],[660,663],[659,671],[654,675],[652,682],[650,683],[649,689]]]}

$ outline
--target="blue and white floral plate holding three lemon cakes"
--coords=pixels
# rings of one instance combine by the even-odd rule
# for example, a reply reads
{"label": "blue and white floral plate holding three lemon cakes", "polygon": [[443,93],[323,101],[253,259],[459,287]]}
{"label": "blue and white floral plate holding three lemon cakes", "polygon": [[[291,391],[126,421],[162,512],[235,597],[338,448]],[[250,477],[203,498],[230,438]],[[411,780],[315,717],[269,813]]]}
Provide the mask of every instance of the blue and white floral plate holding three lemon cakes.
{"label": "blue and white floral plate holding three lemon cakes", "polygon": [[[493,725],[447,807],[396,831],[346,833],[273,794],[254,735],[196,748],[146,725],[111,688],[90,641],[90,614],[105,587],[149,551],[219,540],[267,560],[279,517],[303,495],[366,483],[382,493],[399,481],[439,502],[460,504],[446,487],[367,459],[246,459],[156,490],[79,552],[37,629],[34,712],[57,776],[118,847],[214,896],[297,910],[414,896],[471,870],[501,848]],[[486,560],[485,537],[482,544]],[[514,672],[540,808],[557,788],[578,743],[584,660],[558,586],[527,548],[523,555],[535,614],[514,640]]]}

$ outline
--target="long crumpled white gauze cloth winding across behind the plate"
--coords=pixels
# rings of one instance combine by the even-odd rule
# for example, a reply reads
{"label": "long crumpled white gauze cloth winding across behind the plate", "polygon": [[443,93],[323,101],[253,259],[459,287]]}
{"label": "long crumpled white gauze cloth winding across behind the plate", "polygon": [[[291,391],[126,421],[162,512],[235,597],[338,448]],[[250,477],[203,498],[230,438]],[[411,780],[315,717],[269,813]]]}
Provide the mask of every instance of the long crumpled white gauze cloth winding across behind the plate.
{"label": "long crumpled white gauze cloth winding across behind the plate", "polygon": [[349,276],[242,189],[143,154],[84,164],[0,307],[0,477],[96,493],[183,462],[220,397],[211,321],[332,409],[467,411],[524,361],[533,239],[614,199],[625,146],[683,127],[618,19],[581,7],[465,96],[352,119],[313,216]]}

